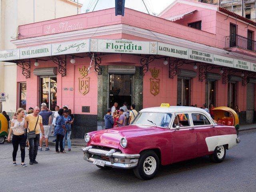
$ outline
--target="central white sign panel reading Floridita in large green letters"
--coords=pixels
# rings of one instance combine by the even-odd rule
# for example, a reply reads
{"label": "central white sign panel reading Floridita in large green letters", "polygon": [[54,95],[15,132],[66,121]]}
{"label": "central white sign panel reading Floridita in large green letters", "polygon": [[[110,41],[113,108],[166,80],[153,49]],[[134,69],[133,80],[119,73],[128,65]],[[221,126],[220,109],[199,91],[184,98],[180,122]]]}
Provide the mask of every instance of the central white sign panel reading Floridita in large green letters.
{"label": "central white sign panel reading Floridita in large green letters", "polygon": [[128,54],[157,54],[157,42],[92,39],[91,51]]}

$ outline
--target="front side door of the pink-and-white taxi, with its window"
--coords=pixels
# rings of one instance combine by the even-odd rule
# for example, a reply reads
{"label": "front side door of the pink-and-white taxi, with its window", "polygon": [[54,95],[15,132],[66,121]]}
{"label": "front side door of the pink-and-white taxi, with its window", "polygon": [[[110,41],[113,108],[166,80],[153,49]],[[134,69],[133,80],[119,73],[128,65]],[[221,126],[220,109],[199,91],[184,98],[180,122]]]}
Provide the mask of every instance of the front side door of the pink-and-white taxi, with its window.
{"label": "front side door of the pink-and-white taxi, with its window", "polygon": [[[175,115],[172,123],[172,162],[179,162],[196,157],[197,143],[196,132],[191,126],[189,114],[181,113]],[[183,120],[180,121],[180,117],[183,117]],[[179,130],[175,128],[177,126],[175,121],[179,123]]]}

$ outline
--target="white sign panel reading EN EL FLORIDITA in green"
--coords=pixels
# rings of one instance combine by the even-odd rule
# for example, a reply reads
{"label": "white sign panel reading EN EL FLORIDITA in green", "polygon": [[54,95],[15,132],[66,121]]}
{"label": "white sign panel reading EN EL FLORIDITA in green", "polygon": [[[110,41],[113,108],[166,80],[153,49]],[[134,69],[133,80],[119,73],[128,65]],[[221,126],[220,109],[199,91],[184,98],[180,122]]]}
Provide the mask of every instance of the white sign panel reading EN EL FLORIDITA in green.
{"label": "white sign panel reading EN EL FLORIDITA in green", "polygon": [[20,59],[51,56],[51,44],[20,48]]}

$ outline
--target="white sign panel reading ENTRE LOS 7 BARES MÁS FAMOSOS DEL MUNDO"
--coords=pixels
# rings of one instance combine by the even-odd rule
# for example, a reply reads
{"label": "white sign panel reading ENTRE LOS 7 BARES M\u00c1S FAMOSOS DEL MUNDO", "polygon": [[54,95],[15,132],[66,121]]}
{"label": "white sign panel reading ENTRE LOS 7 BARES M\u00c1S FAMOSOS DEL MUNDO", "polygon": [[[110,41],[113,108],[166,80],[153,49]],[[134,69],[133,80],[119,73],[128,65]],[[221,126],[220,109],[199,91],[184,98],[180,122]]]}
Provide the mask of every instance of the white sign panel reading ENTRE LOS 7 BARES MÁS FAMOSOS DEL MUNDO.
{"label": "white sign panel reading ENTRE LOS 7 BARES M\u00c1S FAMOSOS DEL MUNDO", "polygon": [[190,49],[188,59],[204,63],[212,63],[213,55],[208,52]]}

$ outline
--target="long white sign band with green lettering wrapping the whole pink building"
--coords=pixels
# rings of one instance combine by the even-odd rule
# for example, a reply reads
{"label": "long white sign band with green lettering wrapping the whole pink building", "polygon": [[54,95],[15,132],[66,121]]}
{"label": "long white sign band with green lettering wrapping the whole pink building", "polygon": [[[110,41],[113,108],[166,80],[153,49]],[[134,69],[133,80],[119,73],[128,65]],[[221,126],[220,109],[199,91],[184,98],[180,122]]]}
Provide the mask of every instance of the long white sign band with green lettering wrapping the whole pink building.
{"label": "long white sign band with green lettering wrapping the whole pink building", "polygon": [[162,42],[111,39],[85,39],[3,50],[0,51],[0,61],[14,61],[84,52],[158,54],[166,57],[182,58],[241,70],[256,71],[256,62],[252,63],[237,58],[235,59]]}

